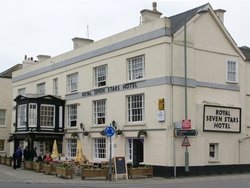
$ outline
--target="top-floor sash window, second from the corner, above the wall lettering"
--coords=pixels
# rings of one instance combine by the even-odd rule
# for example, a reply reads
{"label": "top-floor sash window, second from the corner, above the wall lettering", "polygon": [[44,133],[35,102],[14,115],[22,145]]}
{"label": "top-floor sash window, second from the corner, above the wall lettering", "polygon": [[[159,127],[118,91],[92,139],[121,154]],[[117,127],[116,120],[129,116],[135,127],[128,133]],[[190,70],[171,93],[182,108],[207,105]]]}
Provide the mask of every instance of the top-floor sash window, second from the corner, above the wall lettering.
{"label": "top-floor sash window, second from the corner, above the wall lettering", "polygon": [[101,87],[106,86],[107,81],[107,65],[102,65],[95,68],[95,86]]}

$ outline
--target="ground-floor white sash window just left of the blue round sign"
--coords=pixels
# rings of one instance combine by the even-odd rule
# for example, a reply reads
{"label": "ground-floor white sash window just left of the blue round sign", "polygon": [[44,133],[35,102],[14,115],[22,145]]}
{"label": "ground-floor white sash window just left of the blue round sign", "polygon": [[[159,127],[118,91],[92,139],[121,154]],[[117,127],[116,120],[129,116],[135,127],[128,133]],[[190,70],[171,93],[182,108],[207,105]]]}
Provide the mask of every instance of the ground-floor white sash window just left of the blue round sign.
{"label": "ground-floor white sash window just left of the blue round sign", "polygon": [[94,138],[94,161],[103,161],[107,159],[107,141],[106,138]]}

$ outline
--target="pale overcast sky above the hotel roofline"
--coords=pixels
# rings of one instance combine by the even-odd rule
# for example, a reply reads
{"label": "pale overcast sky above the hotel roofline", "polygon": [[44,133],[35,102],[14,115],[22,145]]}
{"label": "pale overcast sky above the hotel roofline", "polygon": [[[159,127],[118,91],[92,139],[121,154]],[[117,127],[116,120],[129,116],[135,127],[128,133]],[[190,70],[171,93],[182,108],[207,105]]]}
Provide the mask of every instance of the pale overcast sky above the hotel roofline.
{"label": "pale overcast sky above the hotel roofline", "polygon": [[[238,46],[250,46],[249,0],[155,0],[163,16],[205,3],[225,9],[224,22]],[[153,0],[1,0],[0,72],[24,55],[57,56],[73,48],[72,38],[95,41],[136,27]],[[87,32],[87,27],[89,28]],[[87,33],[89,33],[87,35]]]}

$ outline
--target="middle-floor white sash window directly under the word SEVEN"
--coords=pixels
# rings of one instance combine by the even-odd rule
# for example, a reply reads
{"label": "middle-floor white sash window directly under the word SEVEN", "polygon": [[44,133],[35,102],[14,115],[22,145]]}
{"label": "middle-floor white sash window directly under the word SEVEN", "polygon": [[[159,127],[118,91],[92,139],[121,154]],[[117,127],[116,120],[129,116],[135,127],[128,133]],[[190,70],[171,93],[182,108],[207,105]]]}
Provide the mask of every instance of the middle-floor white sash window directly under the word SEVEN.
{"label": "middle-floor white sash window directly under the word SEVEN", "polygon": [[94,101],[94,124],[105,124],[106,100]]}

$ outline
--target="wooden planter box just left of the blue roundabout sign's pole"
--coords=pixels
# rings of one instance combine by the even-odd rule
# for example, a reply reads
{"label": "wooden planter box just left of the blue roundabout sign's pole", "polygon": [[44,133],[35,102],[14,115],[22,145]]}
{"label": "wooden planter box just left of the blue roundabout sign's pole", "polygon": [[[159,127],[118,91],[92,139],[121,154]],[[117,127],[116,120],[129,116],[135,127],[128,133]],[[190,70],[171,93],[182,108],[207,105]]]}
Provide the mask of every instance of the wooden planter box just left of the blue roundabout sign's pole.
{"label": "wooden planter box just left of the blue roundabout sign's pole", "polygon": [[82,180],[88,177],[105,177],[108,179],[108,169],[107,168],[82,168],[81,178]]}

